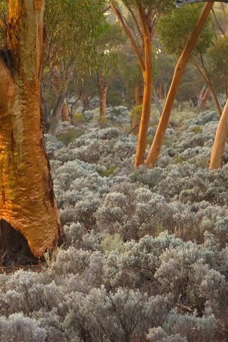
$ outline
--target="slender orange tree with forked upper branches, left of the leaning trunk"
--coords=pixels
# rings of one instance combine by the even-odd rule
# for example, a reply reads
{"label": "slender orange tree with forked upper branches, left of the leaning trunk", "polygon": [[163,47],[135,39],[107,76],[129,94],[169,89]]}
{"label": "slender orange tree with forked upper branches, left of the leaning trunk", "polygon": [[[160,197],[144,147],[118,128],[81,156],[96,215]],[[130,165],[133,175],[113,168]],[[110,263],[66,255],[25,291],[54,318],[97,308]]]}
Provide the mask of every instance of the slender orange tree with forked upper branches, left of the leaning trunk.
{"label": "slender orange tree with forked upper branches, left of the leaning trunk", "polygon": [[138,135],[138,146],[135,155],[135,167],[144,164],[147,146],[147,130],[150,122],[152,102],[152,35],[154,34],[157,18],[162,11],[172,6],[172,1],[125,0],[122,1],[130,15],[126,20],[118,1],[111,1],[110,6],[118,18],[120,26],[127,34],[138,58],[144,82],[142,115]]}

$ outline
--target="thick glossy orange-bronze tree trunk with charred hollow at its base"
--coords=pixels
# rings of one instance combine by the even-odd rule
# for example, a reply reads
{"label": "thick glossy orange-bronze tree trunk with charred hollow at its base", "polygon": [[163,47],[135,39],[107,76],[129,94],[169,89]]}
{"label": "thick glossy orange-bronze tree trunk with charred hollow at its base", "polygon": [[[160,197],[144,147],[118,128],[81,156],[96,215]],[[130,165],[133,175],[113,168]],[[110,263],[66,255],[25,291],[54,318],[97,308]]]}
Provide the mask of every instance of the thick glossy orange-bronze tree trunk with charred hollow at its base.
{"label": "thick glossy orange-bronze tree trunk with charred hollow at its base", "polygon": [[[61,237],[41,119],[43,1],[9,0],[11,68],[0,61],[0,261],[39,258]],[[16,234],[18,232],[18,234]],[[11,249],[14,250],[12,254]],[[10,259],[10,260],[9,260]]]}

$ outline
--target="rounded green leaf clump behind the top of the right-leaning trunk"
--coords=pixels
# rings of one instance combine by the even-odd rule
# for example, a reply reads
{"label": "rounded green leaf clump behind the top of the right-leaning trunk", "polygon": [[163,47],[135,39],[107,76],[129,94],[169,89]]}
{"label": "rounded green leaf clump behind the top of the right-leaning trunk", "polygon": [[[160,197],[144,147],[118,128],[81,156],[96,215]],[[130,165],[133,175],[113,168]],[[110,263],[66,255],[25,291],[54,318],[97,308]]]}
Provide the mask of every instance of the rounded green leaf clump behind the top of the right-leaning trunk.
{"label": "rounded green leaf clump behind the top of the right-leaning trunk", "polygon": [[[180,55],[187,37],[190,35],[199,19],[202,4],[183,6],[163,15],[157,26],[160,41],[168,53]],[[212,40],[210,19],[207,20],[195,46],[195,53],[204,53]]]}

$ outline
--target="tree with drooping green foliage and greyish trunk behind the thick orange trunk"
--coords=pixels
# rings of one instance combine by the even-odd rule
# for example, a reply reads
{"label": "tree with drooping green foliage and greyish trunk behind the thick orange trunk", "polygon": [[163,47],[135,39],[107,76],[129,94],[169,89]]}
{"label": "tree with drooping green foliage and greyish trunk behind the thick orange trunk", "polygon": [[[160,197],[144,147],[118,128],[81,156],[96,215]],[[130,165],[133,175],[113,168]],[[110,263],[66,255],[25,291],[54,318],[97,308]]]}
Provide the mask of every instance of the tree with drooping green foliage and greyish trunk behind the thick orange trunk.
{"label": "tree with drooping green foliage and greyish trunk behind the thick orange trunk", "polygon": [[[71,80],[91,73],[97,63],[96,42],[104,30],[104,4],[105,0],[46,1],[43,84],[46,91],[52,87],[55,90],[53,110],[46,118],[48,132],[53,135]],[[53,82],[53,78],[58,82]]]}

